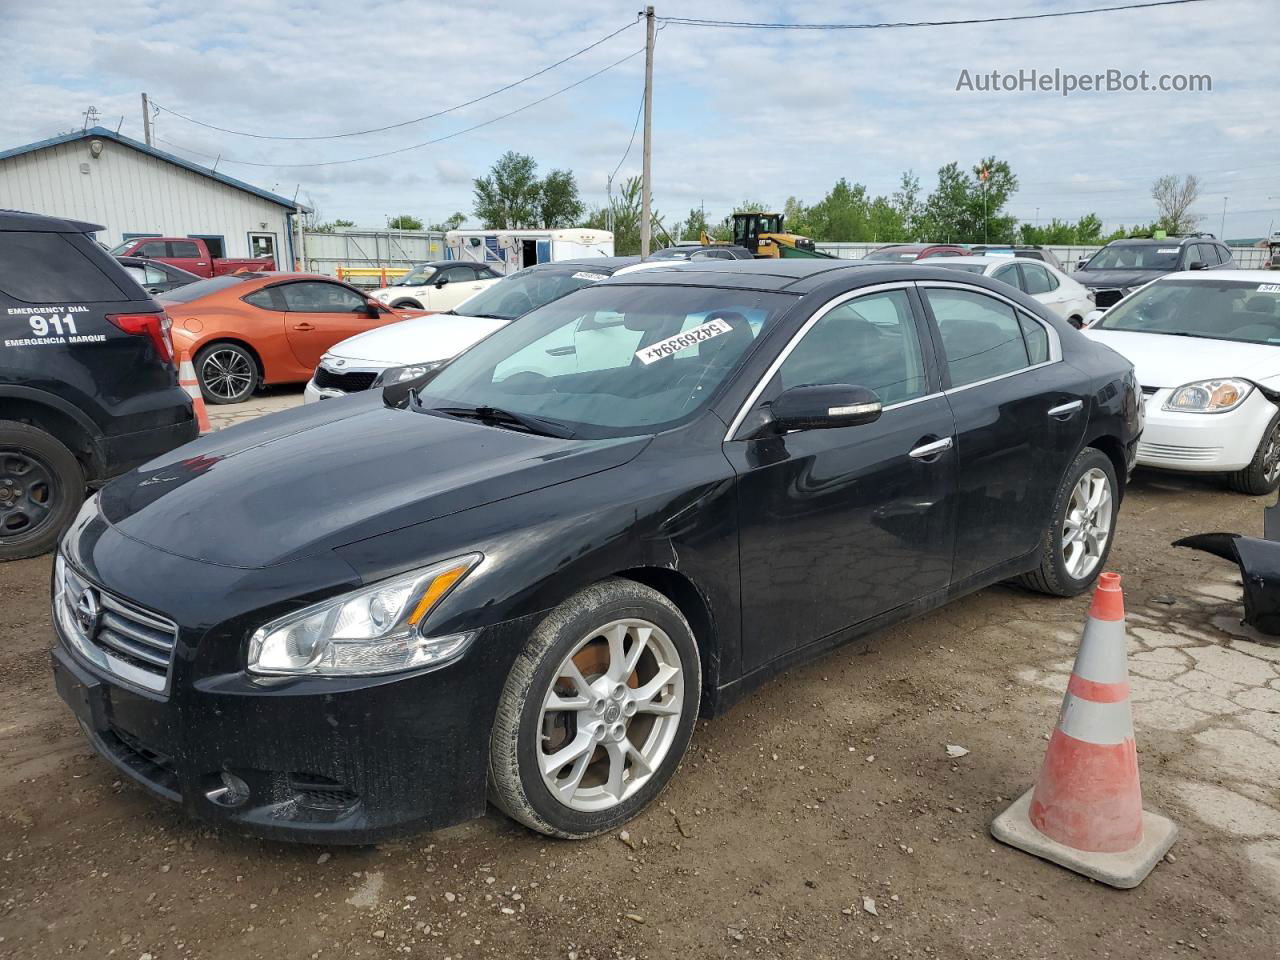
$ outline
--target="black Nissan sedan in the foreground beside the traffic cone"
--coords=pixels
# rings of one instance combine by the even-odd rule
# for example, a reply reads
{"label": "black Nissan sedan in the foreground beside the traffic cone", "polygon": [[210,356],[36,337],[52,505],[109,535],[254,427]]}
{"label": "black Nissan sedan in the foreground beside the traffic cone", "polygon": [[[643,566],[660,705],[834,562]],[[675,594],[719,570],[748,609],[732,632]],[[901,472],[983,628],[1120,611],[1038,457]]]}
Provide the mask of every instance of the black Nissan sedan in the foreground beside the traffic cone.
{"label": "black Nissan sedan in the foreground beside the traffic cone", "polygon": [[122,772],[259,835],[489,797],[595,835],[794,663],[1001,580],[1088,589],[1138,397],[983,276],[612,278],[105,488],[56,562],[58,689]]}

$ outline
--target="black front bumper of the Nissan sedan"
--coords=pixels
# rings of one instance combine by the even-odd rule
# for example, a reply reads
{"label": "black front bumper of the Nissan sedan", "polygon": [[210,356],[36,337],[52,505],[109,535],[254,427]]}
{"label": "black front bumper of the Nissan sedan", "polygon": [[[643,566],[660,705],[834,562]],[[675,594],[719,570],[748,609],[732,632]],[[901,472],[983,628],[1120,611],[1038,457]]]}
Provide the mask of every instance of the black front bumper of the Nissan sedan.
{"label": "black front bumper of the Nissan sedan", "polygon": [[367,844],[484,813],[497,699],[531,628],[484,628],[430,671],[351,678],[195,678],[179,635],[156,692],[88,663],[56,623],[52,671],[93,749],[188,814],[275,840]]}

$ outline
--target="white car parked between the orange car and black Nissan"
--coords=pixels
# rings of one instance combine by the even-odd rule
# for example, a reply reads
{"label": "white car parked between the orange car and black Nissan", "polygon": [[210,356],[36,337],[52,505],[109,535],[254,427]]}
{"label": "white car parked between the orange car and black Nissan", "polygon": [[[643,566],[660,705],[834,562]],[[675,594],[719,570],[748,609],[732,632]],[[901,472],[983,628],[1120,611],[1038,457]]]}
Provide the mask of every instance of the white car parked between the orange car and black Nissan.
{"label": "white car parked between the orange car and black Nissan", "polygon": [[388,324],[335,343],[320,357],[303,401],[315,403],[367,390],[375,383],[411,380],[570,291],[623,270],[658,266],[672,264],[640,262],[640,257],[591,257],[525,268],[485,284],[485,289],[453,310]]}

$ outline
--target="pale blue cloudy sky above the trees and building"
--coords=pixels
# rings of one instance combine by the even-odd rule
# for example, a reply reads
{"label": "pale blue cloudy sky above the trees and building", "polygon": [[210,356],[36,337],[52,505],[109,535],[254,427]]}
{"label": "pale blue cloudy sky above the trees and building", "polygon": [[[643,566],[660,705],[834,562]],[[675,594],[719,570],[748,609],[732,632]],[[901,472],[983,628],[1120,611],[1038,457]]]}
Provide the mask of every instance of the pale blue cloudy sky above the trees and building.
{"label": "pale blue cloudy sky above the trees and building", "polygon": [[[957,19],[1129,0],[859,0],[657,4],[658,15],[765,22]],[[470,0],[0,0],[0,148],[83,124],[142,138],[140,93],[206,124],[323,137],[435,114],[634,23],[636,0],[521,5]],[[471,211],[471,179],[506,150],[570,168],[589,204],[631,137],[644,56],[475,132],[393,156],[545,97],[644,46],[627,27],[589,52],[436,119],[337,140],[224,133],[161,110],[156,146],[287,196],[325,219],[380,225]],[[890,193],[904,170],[928,191],[952,160],[1007,159],[1011,210],[1047,221],[1153,216],[1151,182],[1194,173],[1203,227],[1280,229],[1280,15],[1275,0],[1206,0],[1021,23],[879,31],[756,31],[671,23],[654,64],[654,196],[668,221],[744,198],[817,201],[840,177]],[[1208,74],[1211,92],[957,91],[961,70]],[[250,161],[250,163],[244,163]],[[261,164],[261,165],[251,165]],[[639,173],[640,141],[618,178]],[[3,201],[3,197],[0,197]]]}

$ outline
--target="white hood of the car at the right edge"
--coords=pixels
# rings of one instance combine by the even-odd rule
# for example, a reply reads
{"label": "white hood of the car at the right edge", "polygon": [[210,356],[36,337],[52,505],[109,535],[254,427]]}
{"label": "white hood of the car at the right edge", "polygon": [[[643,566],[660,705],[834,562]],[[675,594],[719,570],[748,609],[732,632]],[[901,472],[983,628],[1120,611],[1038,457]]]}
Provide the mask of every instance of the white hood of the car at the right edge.
{"label": "white hood of the car at the right edge", "polygon": [[1181,387],[1217,376],[1257,383],[1280,374],[1280,347],[1096,328],[1084,335],[1124,355],[1143,387]]}

